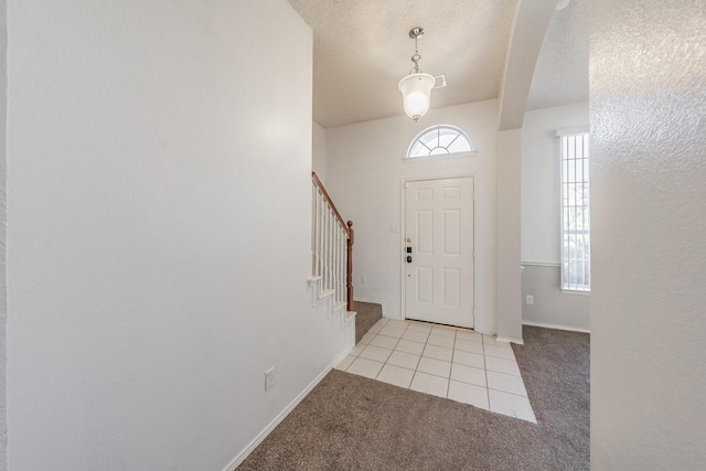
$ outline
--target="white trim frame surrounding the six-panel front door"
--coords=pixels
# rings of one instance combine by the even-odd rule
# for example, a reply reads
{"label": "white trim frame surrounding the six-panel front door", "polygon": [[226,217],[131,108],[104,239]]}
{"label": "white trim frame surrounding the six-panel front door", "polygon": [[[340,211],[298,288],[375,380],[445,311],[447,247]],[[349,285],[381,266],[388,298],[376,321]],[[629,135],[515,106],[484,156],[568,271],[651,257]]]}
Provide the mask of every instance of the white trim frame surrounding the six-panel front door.
{"label": "white trim frame surrounding the six-panel front door", "polygon": [[400,184],[399,184],[399,192],[400,192],[400,201],[402,201],[402,207],[400,207],[400,225],[399,225],[399,289],[400,289],[400,293],[402,293],[402,299],[399,300],[399,306],[400,306],[400,310],[402,312],[400,318],[403,320],[407,319],[407,283],[406,281],[406,269],[405,269],[405,255],[404,254],[404,248],[405,248],[405,236],[406,236],[406,231],[407,231],[407,183],[409,182],[426,182],[426,181],[430,181],[430,180],[449,180],[449,179],[467,179],[467,178],[472,178],[473,179],[473,200],[471,201],[471,206],[473,208],[473,306],[471,308],[472,310],[472,317],[473,317],[473,329],[475,329],[475,324],[477,324],[477,312],[475,312],[475,298],[478,296],[478,269],[477,269],[477,265],[475,264],[475,226],[478,224],[478,211],[477,210],[477,204],[475,204],[475,200],[478,199],[478,191],[477,191],[477,182],[478,182],[478,173],[475,172],[471,172],[471,173],[457,173],[457,174],[447,174],[447,175],[434,175],[434,176],[403,176],[400,179]]}

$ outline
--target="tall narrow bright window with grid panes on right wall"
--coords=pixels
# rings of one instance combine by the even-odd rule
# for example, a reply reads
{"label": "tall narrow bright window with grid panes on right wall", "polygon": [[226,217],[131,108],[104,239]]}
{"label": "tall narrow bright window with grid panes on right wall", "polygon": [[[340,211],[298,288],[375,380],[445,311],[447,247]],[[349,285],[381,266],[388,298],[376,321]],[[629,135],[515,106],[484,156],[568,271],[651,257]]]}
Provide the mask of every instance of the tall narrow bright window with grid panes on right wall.
{"label": "tall narrow bright window with grid panes on right wall", "polygon": [[590,291],[590,193],[588,132],[561,138],[561,289]]}

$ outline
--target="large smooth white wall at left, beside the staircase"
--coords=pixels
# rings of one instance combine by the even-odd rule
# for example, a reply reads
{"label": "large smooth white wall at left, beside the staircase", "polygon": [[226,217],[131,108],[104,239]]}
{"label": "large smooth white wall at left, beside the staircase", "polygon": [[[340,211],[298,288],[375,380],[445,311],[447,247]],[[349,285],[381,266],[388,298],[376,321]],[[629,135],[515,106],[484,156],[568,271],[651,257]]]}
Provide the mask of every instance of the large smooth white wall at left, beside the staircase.
{"label": "large smooth white wall at left, beside the staircase", "polygon": [[307,285],[311,30],[23,0],[8,32],[9,469],[223,470],[342,349]]}

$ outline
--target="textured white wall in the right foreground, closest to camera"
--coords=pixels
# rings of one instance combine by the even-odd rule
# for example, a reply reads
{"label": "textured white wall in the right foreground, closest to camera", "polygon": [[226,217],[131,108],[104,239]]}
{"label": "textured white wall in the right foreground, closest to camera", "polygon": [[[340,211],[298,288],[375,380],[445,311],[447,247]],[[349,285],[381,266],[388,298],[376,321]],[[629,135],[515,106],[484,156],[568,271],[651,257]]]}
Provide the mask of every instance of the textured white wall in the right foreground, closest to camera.
{"label": "textured white wall in the right foreground, closest to camera", "polygon": [[591,468],[706,462],[706,13],[591,2]]}

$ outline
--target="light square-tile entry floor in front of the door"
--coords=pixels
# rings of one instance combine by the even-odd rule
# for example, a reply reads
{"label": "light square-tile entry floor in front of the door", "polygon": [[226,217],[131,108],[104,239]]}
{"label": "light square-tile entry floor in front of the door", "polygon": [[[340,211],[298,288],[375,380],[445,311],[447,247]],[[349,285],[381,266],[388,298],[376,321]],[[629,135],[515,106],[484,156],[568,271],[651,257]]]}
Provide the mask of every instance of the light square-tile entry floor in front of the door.
{"label": "light square-tile entry floor in front of the door", "polygon": [[510,344],[472,330],[381,319],[336,370],[537,421]]}

